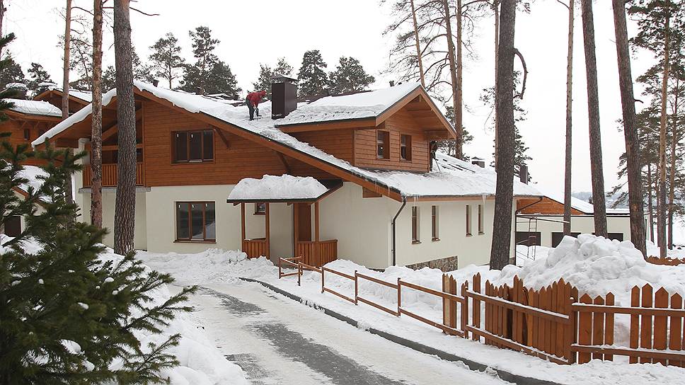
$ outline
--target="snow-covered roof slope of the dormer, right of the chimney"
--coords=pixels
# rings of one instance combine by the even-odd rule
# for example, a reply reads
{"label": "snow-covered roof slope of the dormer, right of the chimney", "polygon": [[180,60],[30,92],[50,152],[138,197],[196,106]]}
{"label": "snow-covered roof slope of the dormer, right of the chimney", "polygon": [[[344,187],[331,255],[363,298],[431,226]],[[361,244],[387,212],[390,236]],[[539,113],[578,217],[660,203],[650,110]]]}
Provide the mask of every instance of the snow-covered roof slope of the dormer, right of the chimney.
{"label": "snow-covered roof slope of the dormer, right of the chimney", "polygon": [[420,86],[419,83],[405,83],[376,91],[326,96],[301,107],[298,105],[297,110],[279,120],[277,126],[377,117]]}

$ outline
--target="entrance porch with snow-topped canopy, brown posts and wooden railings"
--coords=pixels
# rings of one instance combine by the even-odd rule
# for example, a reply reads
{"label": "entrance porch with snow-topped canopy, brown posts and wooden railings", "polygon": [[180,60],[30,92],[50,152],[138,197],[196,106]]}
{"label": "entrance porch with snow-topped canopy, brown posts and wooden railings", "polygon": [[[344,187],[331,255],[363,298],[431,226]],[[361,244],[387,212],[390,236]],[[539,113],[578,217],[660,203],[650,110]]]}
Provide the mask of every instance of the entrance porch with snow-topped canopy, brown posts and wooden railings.
{"label": "entrance porch with snow-topped canopy, brown posts and wooden railings", "polygon": [[[325,184],[325,185],[324,185]],[[302,262],[321,266],[338,258],[338,241],[319,240],[319,207],[324,197],[342,186],[340,180],[323,181],[311,176],[265,175],[263,178],[241,179],[231,190],[227,203],[241,205],[241,239],[243,252],[248,258],[270,257],[270,203],[287,203],[293,207],[294,256]],[[264,205],[265,237],[247,239],[245,229],[245,204]],[[314,236],[311,239],[311,205],[314,207]],[[307,214],[309,213],[309,215]]]}

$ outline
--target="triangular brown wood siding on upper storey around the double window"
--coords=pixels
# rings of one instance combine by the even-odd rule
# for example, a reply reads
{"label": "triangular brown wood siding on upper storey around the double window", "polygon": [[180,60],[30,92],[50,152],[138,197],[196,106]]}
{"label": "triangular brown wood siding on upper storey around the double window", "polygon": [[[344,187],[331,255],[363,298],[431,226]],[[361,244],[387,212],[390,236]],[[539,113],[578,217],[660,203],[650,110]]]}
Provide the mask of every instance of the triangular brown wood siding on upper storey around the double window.
{"label": "triangular brown wood siding on upper storey around the double window", "polygon": [[243,178],[261,178],[265,174],[284,173],[333,178],[306,163],[283,156],[286,167],[276,151],[215,127],[213,161],[171,162],[171,132],[209,128],[213,127],[190,115],[146,100],[143,112],[146,186],[225,185],[238,183]]}

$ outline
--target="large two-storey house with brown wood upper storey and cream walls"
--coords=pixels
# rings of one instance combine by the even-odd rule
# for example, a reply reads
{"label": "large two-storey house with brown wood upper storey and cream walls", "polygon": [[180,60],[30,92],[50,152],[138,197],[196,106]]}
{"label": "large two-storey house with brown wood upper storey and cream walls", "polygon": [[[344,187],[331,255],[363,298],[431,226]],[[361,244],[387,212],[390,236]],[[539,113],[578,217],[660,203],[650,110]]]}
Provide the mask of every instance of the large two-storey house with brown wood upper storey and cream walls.
{"label": "large two-storey house with brown wood upper storey and cream walls", "polygon": [[[110,228],[115,92],[103,96],[103,221]],[[292,79],[278,79],[254,121],[246,106],[218,98],[138,81],[134,94],[136,248],[242,249],[251,257],[299,255],[313,265],[345,258],[369,268],[488,263],[495,173],[433,155],[432,142],[455,132],[419,84],[297,103]],[[51,138],[87,151],[90,113],[88,105],[34,145]],[[84,215],[90,179],[86,164],[75,183]],[[514,193],[539,196],[519,182]]]}

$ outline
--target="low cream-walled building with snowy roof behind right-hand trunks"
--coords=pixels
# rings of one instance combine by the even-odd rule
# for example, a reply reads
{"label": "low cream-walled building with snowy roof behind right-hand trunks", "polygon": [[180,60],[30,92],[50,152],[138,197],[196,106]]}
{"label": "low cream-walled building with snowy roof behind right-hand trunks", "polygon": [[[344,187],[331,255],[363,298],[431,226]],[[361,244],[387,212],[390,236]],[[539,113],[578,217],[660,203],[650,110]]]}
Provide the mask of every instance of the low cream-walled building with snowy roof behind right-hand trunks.
{"label": "low cream-walled building with snowy roof behind right-hand trunks", "polygon": [[[563,239],[563,194],[542,190],[542,197],[517,201],[516,243],[526,246],[556,247]],[[645,217],[646,218],[646,217]],[[646,222],[646,219],[645,219]],[[628,209],[606,208],[609,239],[631,240],[631,216]],[[594,233],[592,203],[571,197],[571,235]],[[647,234],[647,238],[649,234]]]}

